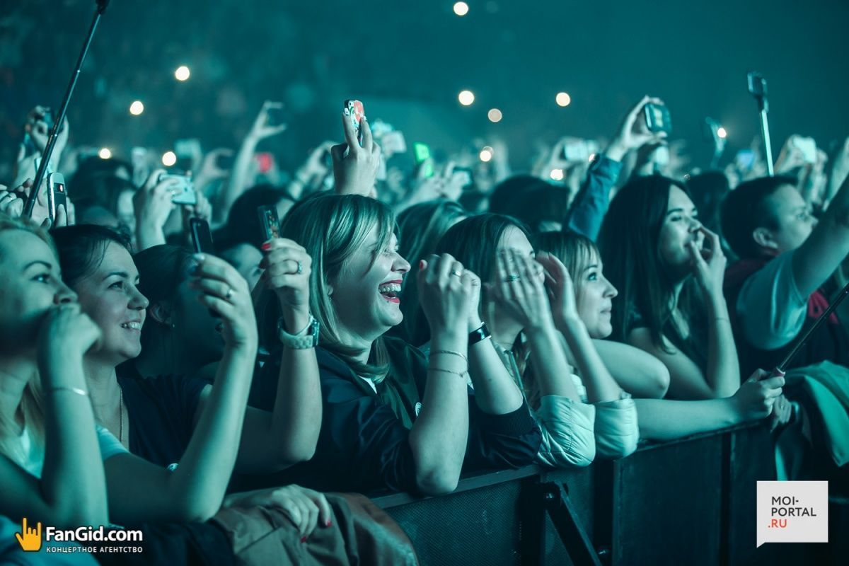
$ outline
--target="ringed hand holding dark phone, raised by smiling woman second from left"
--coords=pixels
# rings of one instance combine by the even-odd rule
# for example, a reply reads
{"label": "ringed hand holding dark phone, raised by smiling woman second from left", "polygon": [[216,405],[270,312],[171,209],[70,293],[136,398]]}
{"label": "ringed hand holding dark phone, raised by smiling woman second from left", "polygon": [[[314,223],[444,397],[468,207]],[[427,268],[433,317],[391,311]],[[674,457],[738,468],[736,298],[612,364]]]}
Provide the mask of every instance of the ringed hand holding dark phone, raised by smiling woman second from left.
{"label": "ringed hand holding dark phone, raised by smiling woman second from left", "polygon": [[256,350],[256,316],[245,277],[227,261],[205,254],[194,255],[189,272],[188,285],[199,291],[198,300],[221,317],[225,344]]}

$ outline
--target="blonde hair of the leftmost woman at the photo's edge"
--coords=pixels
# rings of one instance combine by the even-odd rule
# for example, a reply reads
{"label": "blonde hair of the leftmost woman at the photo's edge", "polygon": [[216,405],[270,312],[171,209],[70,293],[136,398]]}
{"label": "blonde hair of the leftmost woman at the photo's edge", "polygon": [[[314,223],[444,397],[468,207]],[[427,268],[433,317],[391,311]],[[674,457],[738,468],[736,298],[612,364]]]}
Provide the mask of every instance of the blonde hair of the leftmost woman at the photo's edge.
{"label": "blonde hair of the leftmost woman at the photo's edge", "polygon": [[[41,227],[34,222],[13,218],[0,214],[0,233],[10,230],[23,230],[35,234],[41,238],[48,247],[56,254],[53,240]],[[40,445],[44,445],[44,410],[42,405],[41,378],[33,378],[24,386],[24,393],[20,398],[20,413],[24,419],[24,429],[27,429],[31,439]],[[17,442],[17,423],[15,414],[6,415],[0,412],[0,454],[11,458],[14,462],[20,462],[23,454],[20,454]]]}

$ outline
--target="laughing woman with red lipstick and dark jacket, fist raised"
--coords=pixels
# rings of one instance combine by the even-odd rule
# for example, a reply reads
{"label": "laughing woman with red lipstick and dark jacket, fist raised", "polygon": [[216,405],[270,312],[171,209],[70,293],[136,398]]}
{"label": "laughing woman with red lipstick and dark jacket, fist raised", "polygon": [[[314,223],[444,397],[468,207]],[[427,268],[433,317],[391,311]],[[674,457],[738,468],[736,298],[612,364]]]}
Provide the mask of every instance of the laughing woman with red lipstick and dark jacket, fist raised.
{"label": "laughing woman with red lipstick and dark jacket, fist raised", "polygon": [[[537,452],[538,429],[519,390],[469,367],[478,280],[461,263],[442,255],[419,266],[430,364],[416,348],[385,336],[402,321],[398,295],[410,268],[394,228],[385,204],[329,193],[296,204],[281,226],[315,258],[310,305],[320,322],[322,432],[315,457],[291,470],[297,483],[441,494],[454,490],[461,468],[518,467]],[[474,396],[469,371],[480,384]],[[272,362],[263,368],[266,378],[276,372]]]}

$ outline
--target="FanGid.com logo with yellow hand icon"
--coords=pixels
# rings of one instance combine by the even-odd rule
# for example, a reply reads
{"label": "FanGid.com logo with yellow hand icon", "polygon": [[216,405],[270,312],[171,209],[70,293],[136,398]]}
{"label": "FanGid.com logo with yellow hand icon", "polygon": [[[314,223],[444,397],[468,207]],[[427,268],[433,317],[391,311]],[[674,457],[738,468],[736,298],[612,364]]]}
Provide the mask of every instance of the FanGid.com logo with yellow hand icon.
{"label": "FanGid.com logo with yellow hand icon", "polygon": [[[141,546],[110,546],[110,542],[142,542],[140,530],[104,529],[104,527],[77,527],[76,529],[56,529],[44,527],[38,522],[35,527],[27,524],[24,518],[20,524],[20,533],[14,534],[20,548],[25,552],[72,553],[72,552],[142,552]],[[67,544],[76,542],[78,544]],[[94,544],[91,544],[94,543]]]}

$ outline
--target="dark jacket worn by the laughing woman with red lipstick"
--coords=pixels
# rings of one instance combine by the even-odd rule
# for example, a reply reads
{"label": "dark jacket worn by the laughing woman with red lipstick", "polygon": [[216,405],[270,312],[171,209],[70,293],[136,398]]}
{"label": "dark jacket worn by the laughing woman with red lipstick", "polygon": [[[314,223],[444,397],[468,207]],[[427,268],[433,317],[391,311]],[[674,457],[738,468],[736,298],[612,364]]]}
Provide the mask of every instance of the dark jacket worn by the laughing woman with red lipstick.
{"label": "dark jacket worn by the laughing woman with red lipstick", "polygon": [[[419,349],[400,339],[385,338],[391,362],[377,393],[340,358],[318,348],[323,419],[315,456],[276,479],[249,485],[289,481],[315,490],[415,491],[416,474],[408,437],[424,396],[427,360]],[[277,389],[279,356],[263,367],[254,384],[252,404],[270,410]],[[293,378],[297,378],[293,376]],[[469,391],[469,443],[464,472],[486,468],[519,468],[534,462],[540,431],[525,403],[505,415],[478,408]],[[258,478],[254,478],[259,480]]]}

